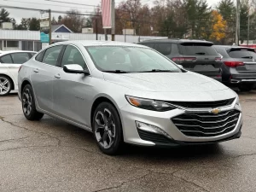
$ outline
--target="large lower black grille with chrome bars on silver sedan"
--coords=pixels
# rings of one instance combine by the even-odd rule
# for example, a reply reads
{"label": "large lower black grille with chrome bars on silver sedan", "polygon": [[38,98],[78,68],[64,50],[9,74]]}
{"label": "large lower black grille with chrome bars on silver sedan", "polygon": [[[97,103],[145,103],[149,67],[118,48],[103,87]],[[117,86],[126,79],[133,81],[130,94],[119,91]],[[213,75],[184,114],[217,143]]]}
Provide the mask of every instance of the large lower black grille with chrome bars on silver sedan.
{"label": "large lower black grille with chrome bars on silver sedan", "polygon": [[189,137],[214,137],[233,131],[239,119],[237,110],[218,114],[185,113],[172,118],[179,131]]}

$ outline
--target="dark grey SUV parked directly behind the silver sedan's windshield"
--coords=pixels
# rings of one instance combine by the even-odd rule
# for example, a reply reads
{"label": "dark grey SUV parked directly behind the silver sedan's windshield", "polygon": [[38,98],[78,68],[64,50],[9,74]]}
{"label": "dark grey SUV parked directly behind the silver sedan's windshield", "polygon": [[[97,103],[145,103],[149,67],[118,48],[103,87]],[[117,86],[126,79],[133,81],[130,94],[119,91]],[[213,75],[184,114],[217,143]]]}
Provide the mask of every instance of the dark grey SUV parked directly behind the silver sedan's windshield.
{"label": "dark grey SUV parked directly behind the silver sedan's windshield", "polygon": [[189,39],[158,39],[139,44],[156,49],[183,68],[201,73],[218,81],[222,80],[222,61],[213,43]]}

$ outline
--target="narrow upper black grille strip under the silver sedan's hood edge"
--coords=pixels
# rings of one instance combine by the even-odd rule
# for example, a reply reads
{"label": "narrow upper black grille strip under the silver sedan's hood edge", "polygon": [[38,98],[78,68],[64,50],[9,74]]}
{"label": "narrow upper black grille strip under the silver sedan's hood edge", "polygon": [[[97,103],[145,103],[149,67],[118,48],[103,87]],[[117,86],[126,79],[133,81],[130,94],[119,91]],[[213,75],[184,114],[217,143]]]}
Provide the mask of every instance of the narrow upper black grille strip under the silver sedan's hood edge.
{"label": "narrow upper black grille strip under the silver sedan's hood edge", "polygon": [[219,107],[231,105],[234,101],[235,101],[235,98],[221,100],[217,102],[170,102],[170,103],[183,108],[219,108]]}

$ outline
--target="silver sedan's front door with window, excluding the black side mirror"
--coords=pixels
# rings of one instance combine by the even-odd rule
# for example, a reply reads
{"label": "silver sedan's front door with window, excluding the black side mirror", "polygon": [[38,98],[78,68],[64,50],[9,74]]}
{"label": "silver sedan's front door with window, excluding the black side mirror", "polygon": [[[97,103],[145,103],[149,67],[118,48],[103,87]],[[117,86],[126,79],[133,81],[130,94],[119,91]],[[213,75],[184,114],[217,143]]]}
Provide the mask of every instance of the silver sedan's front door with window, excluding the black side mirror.
{"label": "silver sedan's front door with window, excluding the black side mirror", "polygon": [[[88,126],[84,115],[89,115],[89,94],[92,78],[84,74],[65,73],[64,65],[79,64],[84,69],[87,65],[83,54],[74,45],[67,45],[61,59],[61,68],[55,73],[53,102],[55,113],[62,118]],[[87,68],[88,69],[88,68]]]}

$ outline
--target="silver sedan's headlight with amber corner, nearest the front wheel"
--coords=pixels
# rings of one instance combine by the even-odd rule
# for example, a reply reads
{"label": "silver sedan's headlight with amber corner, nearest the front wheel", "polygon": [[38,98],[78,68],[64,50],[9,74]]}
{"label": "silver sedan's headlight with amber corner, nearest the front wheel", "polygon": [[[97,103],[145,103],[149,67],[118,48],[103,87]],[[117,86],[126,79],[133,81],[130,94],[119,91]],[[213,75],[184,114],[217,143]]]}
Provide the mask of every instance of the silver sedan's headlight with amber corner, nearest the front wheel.
{"label": "silver sedan's headlight with amber corner, nearest the front wheel", "polygon": [[157,102],[150,99],[137,98],[134,96],[125,96],[127,101],[134,107],[148,109],[151,111],[169,111],[175,109],[172,105],[166,102]]}

